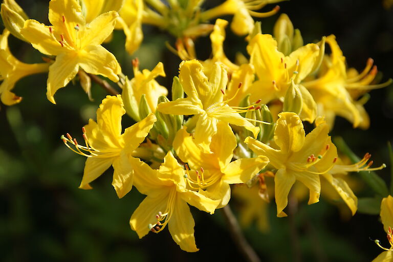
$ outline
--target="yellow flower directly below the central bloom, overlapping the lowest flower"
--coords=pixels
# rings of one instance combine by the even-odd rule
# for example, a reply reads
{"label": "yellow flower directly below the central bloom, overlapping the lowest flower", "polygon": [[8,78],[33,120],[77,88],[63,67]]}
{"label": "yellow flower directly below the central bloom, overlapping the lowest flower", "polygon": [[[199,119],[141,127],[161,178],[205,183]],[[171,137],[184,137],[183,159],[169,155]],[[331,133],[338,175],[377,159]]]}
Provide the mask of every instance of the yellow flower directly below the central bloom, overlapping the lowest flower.
{"label": "yellow flower directly below the central bloom, overlapping the lowest flower", "polygon": [[187,133],[186,128],[179,130],[173,141],[173,149],[179,158],[188,163],[197,173],[188,173],[186,181],[195,190],[206,189],[212,199],[220,200],[219,208],[228,204],[231,197],[230,184],[246,183],[269,160],[260,156],[256,158],[237,159],[231,162],[236,138],[227,123],[217,123],[217,133],[212,137],[210,151],[206,153]]}

